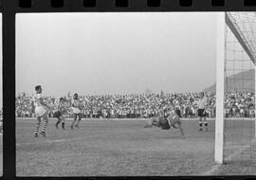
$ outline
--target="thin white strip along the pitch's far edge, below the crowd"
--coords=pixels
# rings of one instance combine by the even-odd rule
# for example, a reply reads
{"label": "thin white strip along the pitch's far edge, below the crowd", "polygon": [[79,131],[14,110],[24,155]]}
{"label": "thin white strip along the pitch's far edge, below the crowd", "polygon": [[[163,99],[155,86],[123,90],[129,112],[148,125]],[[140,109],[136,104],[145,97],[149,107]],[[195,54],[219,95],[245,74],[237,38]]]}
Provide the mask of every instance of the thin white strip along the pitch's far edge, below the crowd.
{"label": "thin white strip along the pitch's far edge, below the crowd", "polygon": [[[16,117],[17,120],[35,120],[35,117]],[[49,120],[54,120],[56,118],[50,117]],[[65,118],[66,120],[72,120],[73,118]],[[180,118],[181,120],[198,120],[198,118]],[[82,118],[82,120],[86,121],[120,121],[120,120],[149,120],[149,118]],[[207,120],[215,120],[215,118],[207,118]],[[255,118],[249,117],[233,117],[233,118],[225,118],[225,120],[255,120]]]}

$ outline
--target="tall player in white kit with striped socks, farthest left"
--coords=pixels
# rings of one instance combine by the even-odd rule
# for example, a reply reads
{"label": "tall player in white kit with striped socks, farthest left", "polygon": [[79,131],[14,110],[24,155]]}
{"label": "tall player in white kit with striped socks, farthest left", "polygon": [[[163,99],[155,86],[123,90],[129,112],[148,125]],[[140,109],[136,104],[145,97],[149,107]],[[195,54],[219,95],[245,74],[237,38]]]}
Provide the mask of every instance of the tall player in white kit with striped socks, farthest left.
{"label": "tall player in white kit with striped socks, farthest left", "polygon": [[37,118],[35,137],[38,136],[38,131],[40,128],[42,118],[44,120],[44,124],[40,134],[46,137],[46,126],[48,123],[48,117],[47,117],[48,106],[46,105],[42,97],[42,86],[41,85],[35,86],[35,91],[36,91],[36,94],[33,96],[33,101],[32,101],[32,106],[35,112],[35,116]]}

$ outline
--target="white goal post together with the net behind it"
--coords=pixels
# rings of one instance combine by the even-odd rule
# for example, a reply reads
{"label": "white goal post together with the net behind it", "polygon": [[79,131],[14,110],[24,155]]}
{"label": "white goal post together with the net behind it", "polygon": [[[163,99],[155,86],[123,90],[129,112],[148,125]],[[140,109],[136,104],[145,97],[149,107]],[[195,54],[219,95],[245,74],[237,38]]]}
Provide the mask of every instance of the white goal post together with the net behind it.
{"label": "white goal post together with the net behind it", "polygon": [[224,164],[256,156],[256,12],[217,16],[214,161]]}

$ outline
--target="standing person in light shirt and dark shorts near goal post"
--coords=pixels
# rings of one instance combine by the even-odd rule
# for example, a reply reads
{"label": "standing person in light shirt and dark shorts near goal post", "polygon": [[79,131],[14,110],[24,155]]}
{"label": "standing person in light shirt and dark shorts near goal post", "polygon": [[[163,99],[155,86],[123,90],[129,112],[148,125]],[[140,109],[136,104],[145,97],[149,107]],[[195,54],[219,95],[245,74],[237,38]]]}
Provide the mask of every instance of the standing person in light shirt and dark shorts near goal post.
{"label": "standing person in light shirt and dark shorts near goal post", "polygon": [[197,102],[198,105],[198,117],[199,117],[199,129],[198,131],[203,131],[203,121],[202,118],[204,119],[204,124],[205,124],[205,130],[208,131],[208,122],[206,119],[206,108],[208,104],[208,99],[205,96],[204,92],[200,93],[200,99]]}

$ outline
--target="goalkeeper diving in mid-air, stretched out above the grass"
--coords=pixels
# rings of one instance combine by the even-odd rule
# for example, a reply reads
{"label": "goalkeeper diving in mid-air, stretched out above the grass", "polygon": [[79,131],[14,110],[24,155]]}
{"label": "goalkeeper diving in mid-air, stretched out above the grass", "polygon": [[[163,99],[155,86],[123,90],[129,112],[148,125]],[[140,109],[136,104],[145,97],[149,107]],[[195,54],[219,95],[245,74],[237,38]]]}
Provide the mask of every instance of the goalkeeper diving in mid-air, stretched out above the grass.
{"label": "goalkeeper diving in mid-air, stretched out above the grass", "polygon": [[158,128],[161,128],[162,130],[169,130],[171,127],[177,129],[175,124],[178,125],[178,129],[181,135],[184,137],[184,132],[181,126],[181,120],[179,116],[175,113],[174,108],[172,107],[170,115],[168,117],[164,117],[164,111],[161,110],[159,113],[159,117],[152,117],[144,126],[144,128],[151,128],[152,126],[156,126]]}

